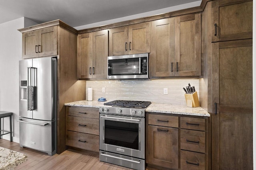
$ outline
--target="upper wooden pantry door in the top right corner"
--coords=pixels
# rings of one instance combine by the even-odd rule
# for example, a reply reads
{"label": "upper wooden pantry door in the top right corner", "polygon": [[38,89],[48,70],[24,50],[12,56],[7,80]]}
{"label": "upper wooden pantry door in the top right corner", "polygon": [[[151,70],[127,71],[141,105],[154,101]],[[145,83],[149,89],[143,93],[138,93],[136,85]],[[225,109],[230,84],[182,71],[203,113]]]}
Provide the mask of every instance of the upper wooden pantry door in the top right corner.
{"label": "upper wooden pantry door in the top right corner", "polygon": [[252,38],[252,0],[212,2],[212,41]]}

